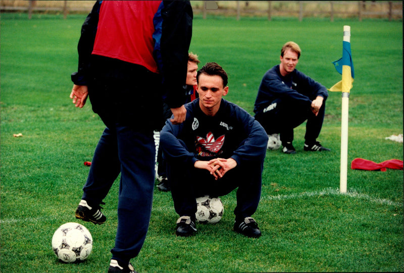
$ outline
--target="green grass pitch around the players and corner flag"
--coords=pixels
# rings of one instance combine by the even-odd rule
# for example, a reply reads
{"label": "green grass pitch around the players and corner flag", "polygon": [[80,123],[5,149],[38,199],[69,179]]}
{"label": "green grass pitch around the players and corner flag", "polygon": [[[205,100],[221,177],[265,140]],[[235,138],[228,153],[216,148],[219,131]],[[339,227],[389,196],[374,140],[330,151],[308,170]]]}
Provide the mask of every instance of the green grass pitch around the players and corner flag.
{"label": "green grass pitch around the players and corner flag", "polygon": [[[74,210],[104,126],[90,105],[69,99],[84,15],[2,14],[1,24],[1,259],[8,272],[105,272],[117,226],[118,184],[105,199],[105,225],[84,225],[94,238],[89,258],[65,264],[51,250],[55,230],[76,222]],[[332,61],[342,54],[342,28],[351,26],[355,66],[349,98],[348,162],[403,159],[402,22],[195,17],[190,50],[202,64],[229,74],[226,98],[252,114],[264,73],[279,62],[282,44],[302,48],[297,69],[326,87],[341,79]],[[403,173],[348,169],[339,193],[341,94],[330,93],[319,140],[329,153],[302,150],[305,126],[295,129],[297,154],[268,151],[262,200],[254,215],[263,232],[248,239],[232,231],[235,192],[221,199],[217,225],[175,236],[169,193],[155,191],[140,272],[403,271]],[[13,134],[22,133],[16,138]]]}

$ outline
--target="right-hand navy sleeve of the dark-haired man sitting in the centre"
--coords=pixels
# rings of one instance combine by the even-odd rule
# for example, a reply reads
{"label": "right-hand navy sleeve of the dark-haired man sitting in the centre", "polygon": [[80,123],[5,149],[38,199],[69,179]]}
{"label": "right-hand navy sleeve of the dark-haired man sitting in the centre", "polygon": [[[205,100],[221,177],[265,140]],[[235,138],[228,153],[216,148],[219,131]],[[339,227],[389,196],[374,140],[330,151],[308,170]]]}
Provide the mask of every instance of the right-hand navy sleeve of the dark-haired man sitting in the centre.
{"label": "right-hand navy sleeve of the dark-haired man sitting in the centre", "polygon": [[246,138],[241,141],[238,148],[233,152],[231,158],[236,160],[237,165],[243,161],[263,162],[267,154],[268,135],[261,124],[245,113],[244,130]]}

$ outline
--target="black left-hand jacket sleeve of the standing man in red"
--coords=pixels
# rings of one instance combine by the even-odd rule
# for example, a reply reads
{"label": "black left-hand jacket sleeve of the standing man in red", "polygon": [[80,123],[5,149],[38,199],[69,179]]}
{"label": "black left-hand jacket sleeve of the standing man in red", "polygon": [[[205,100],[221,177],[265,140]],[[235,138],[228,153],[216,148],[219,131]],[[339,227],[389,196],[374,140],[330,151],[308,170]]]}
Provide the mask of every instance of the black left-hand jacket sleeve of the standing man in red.
{"label": "black left-hand jacket sleeve of the standing man in red", "polygon": [[90,14],[88,14],[81,27],[81,35],[77,45],[79,54],[78,69],[77,72],[71,75],[73,83],[77,85],[87,85],[88,83],[88,69],[91,52],[94,47],[101,3],[102,1],[97,1],[94,4]]}

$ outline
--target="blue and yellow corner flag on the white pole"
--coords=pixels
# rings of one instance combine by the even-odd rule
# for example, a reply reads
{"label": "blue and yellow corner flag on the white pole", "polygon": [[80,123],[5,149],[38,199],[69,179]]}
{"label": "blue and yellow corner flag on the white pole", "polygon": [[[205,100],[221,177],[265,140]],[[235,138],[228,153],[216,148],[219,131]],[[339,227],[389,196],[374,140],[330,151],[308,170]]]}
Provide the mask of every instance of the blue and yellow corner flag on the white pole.
{"label": "blue and yellow corner flag on the white pole", "polygon": [[343,41],[342,58],[332,62],[335,69],[342,75],[342,80],[334,84],[329,91],[348,92],[352,88],[355,72],[354,63],[352,62],[352,54],[350,52],[350,42]]}

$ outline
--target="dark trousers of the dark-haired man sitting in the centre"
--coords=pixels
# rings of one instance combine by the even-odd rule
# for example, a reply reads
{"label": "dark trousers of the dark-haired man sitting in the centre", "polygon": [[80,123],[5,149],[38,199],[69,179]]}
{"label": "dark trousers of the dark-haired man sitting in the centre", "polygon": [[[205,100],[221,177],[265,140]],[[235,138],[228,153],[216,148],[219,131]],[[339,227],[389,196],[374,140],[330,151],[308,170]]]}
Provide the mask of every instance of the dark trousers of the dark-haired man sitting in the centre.
{"label": "dark trousers of the dark-haired man sitting in the centre", "polygon": [[263,162],[243,162],[228,171],[223,178],[215,178],[207,171],[186,168],[179,162],[168,161],[167,177],[175,211],[180,216],[195,219],[196,201],[200,196],[224,196],[237,189],[236,221],[254,214],[261,198]]}

